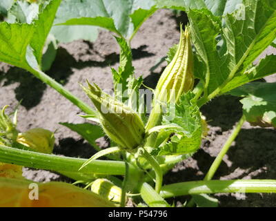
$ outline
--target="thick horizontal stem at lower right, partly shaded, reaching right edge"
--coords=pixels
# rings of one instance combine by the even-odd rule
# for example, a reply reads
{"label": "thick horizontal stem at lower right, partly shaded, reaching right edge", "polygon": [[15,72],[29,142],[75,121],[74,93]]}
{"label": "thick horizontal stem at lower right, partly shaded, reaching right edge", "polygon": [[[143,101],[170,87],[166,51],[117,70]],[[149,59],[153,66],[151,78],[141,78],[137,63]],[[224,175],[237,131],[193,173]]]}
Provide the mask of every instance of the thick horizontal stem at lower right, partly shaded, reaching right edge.
{"label": "thick horizontal stem at lower right, partly shaded, reaching right edge", "polygon": [[161,188],[161,197],[201,193],[276,193],[276,180],[208,180],[170,184]]}

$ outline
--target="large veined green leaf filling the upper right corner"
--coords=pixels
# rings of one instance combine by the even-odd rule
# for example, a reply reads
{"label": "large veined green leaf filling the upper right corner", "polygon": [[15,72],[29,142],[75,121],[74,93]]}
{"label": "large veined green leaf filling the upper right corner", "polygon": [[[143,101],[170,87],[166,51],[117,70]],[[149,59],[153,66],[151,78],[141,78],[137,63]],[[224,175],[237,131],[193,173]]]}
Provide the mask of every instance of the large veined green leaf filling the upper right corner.
{"label": "large veined green leaf filling the upper right corner", "polygon": [[223,26],[221,19],[206,9],[188,12],[197,59],[204,64],[198,68],[204,73],[206,101],[228,87],[233,78],[246,75],[253,61],[276,37],[275,1],[242,3],[242,10],[224,15]]}

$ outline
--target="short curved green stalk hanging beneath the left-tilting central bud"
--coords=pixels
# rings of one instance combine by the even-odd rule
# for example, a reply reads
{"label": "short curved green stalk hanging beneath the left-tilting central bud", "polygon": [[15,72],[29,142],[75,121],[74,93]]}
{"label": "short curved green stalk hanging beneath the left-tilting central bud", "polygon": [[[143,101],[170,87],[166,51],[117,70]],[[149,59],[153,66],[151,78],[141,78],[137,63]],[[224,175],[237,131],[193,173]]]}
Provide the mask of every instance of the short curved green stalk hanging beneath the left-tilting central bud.
{"label": "short curved green stalk hanging beneath the left-tilting central bud", "polygon": [[163,182],[163,173],[162,173],[161,167],[159,166],[159,163],[157,162],[157,160],[155,160],[155,158],[152,157],[148,153],[148,151],[143,149],[143,151],[141,152],[142,152],[141,156],[144,157],[149,162],[149,164],[152,166],[153,170],[155,171],[155,191],[159,193]]}

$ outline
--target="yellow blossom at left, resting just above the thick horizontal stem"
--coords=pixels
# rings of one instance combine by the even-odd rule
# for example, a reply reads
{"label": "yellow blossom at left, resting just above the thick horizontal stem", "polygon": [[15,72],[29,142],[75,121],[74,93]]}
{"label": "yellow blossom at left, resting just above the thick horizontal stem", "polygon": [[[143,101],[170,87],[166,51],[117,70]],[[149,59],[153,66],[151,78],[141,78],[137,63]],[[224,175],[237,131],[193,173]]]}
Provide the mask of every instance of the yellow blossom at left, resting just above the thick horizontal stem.
{"label": "yellow blossom at left, resting just above the thick horizontal stem", "polygon": [[52,153],[55,145],[54,133],[43,128],[32,128],[19,133],[17,142],[40,153]]}

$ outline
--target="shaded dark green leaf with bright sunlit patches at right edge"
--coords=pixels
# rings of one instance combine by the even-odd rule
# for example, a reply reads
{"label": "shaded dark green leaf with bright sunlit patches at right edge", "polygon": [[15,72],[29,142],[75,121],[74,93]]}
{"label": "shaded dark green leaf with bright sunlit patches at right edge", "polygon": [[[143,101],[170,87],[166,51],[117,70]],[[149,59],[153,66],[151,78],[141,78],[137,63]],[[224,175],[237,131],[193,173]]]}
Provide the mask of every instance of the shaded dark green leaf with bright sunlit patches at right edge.
{"label": "shaded dark green leaf with bright sunlit patches at right edge", "polygon": [[230,94],[245,97],[240,102],[250,124],[276,128],[276,83],[253,82],[232,90]]}

